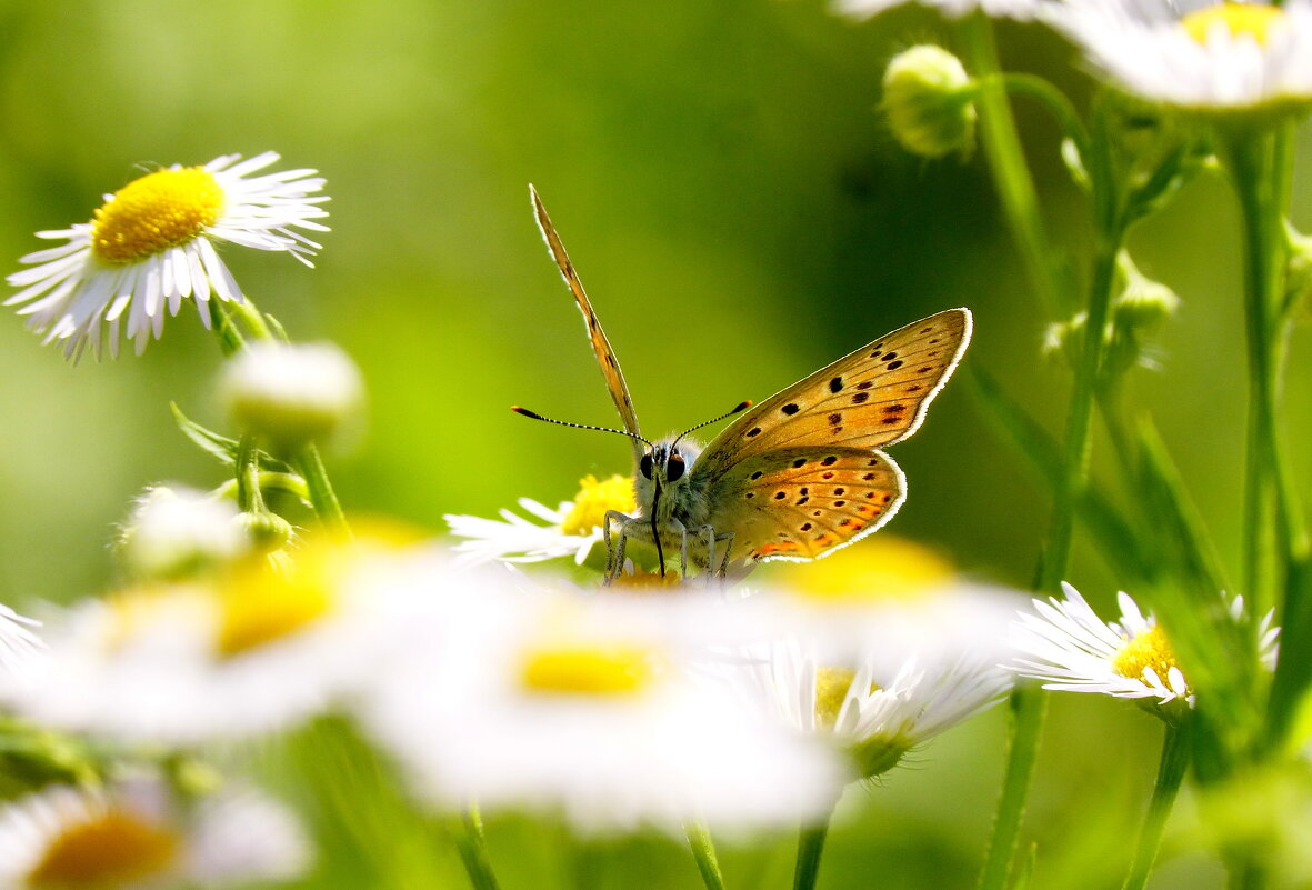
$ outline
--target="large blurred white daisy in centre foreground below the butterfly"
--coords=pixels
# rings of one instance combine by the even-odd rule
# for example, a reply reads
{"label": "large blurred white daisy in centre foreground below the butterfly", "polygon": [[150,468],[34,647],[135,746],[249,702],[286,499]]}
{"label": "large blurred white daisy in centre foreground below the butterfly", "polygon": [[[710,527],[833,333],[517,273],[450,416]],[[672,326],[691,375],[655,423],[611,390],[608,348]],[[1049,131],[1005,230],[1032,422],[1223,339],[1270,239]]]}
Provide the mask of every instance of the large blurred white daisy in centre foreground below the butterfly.
{"label": "large blurred white daisy in centre foreground below the butterfly", "polygon": [[365,723],[440,809],[526,807],[581,832],[817,816],[841,788],[832,753],[689,668],[724,605],[484,591],[441,622],[412,622]]}

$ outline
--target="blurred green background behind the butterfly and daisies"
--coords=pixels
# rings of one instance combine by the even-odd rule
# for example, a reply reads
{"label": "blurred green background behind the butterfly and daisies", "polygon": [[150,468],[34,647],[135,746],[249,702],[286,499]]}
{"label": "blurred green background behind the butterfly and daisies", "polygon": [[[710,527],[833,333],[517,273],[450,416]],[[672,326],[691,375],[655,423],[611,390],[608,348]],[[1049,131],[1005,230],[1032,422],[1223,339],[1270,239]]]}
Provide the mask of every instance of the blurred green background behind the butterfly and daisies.
{"label": "blurred green background behind the butterfly and daisies", "polygon": [[[363,369],[367,424],[329,456],[349,511],[440,530],[443,513],[492,515],[520,496],[554,504],[586,473],[628,471],[615,438],[506,410],[614,421],[534,227],[530,181],[625,362],[648,434],[761,399],[960,305],[976,314],[968,361],[1060,428],[1068,381],[1039,356],[1050,319],[981,159],[911,158],[874,113],[893,53],[950,39],[932,13],[854,25],[817,0],[10,0],[0,3],[0,256],[10,269],[39,245],[34,231],[89,219],[102,193],[142,168],[273,148],[285,165],[328,177],[333,231],[314,272],[273,255],[227,259],[295,339],[332,339]],[[1060,39],[1006,24],[1000,38],[1008,67],[1046,74],[1077,101],[1088,92]],[[1025,105],[1018,113],[1054,238],[1078,268],[1081,194],[1064,179],[1051,122]],[[1295,219],[1307,219],[1305,189],[1296,194]],[[1138,374],[1131,398],[1156,416],[1232,557],[1244,364],[1224,182],[1194,182],[1132,247],[1185,305],[1160,337],[1161,370]],[[211,395],[218,349],[189,310],[143,357],[79,366],[18,318],[0,322],[0,601],[97,593],[113,578],[114,522],[142,486],[220,482],[168,412],[176,400],[223,425]],[[1312,391],[1305,333],[1296,337],[1290,432],[1305,441]],[[1294,456],[1305,482],[1312,453]],[[974,575],[1027,583],[1047,499],[967,387],[950,386],[895,457],[911,498],[892,533]],[[1110,462],[1098,473],[1126,495]],[[1117,567],[1082,547],[1072,580],[1106,605]],[[850,793],[820,885],[974,886],[1004,732],[998,709],[935,742],[916,768]],[[1119,883],[1158,732],[1119,702],[1055,702],[1029,823],[1040,844],[1036,886]],[[508,887],[543,886],[535,869],[568,874],[556,852],[522,836],[492,827],[493,856],[520,862],[506,865]],[[1153,886],[1219,886],[1211,860],[1170,847]],[[789,848],[781,839],[731,852],[731,886],[782,886]],[[695,885],[676,848],[648,852],[646,886]],[[346,886],[350,856],[349,844],[332,849],[315,882],[336,876]],[[449,851],[441,856],[455,869]],[[371,881],[387,885],[352,874],[353,886]]]}

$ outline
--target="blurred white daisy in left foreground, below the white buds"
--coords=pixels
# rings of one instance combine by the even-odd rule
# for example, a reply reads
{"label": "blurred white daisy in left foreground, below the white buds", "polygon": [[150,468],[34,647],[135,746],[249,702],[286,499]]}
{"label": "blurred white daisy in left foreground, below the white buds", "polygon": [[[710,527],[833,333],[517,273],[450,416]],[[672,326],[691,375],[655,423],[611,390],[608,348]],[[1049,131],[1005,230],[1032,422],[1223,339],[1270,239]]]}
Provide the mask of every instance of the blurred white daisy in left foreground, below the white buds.
{"label": "blurred white daisy in left foreground, below the white buds", "polygon": [[409,567],[430,559],[378,537],[311,541],[290,567],[256,558],[224,578],[85,603],[51,622],[42,658],[3,696],[41,725],[122,742],[286,729],[358,685]]}

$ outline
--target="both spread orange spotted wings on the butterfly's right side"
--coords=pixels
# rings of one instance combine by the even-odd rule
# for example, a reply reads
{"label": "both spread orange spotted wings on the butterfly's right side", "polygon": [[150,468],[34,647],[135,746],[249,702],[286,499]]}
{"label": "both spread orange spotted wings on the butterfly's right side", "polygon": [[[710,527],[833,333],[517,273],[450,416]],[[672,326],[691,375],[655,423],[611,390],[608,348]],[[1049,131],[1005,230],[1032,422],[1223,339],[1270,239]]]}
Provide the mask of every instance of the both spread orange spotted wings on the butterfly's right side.
{"label": "both spread orange spotted wings on the butterfly's right side", "polygon": [[880,445],[907,438],[971,336],[966,308],[875,340],[777,392],[702,452],[693,482],[733,557],[813,559],[883,525],[905,498]]}

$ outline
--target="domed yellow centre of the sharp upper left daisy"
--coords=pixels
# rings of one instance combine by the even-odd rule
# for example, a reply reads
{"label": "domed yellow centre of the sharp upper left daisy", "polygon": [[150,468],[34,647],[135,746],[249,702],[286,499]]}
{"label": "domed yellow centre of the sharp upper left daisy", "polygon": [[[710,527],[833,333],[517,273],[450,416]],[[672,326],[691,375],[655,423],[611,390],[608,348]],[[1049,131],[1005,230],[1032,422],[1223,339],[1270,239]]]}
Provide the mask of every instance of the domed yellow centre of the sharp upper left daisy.
{"label": "domed yellow centre of the sharp upper left daisy", "polygon": [[161,169],[129,182],[97,207],[91,249],[122,265],[186,244],[223,210],[223,189],[203,167]]}

